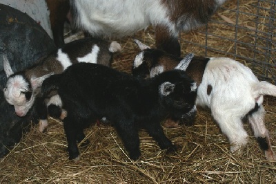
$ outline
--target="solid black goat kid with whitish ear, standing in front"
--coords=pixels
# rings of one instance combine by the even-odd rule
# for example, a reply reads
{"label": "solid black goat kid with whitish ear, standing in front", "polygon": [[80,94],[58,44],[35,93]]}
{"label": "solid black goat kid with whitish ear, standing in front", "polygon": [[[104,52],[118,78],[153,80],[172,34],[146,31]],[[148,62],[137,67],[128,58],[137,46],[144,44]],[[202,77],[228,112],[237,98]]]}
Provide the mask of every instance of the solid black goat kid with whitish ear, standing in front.
{"label": "solid black goat kid with whitish ear, standing in front", "polygon": [[195,113],[197,86],[184,71],[161,73],[139,80],[127,73],[99,64],[79,63],[42,84],[45,97],[57,90],[68,112],[63,125],[68,141],[69,159],[79,159],[77,142],[85,137],[83,126],[96,118],[113,122],[131,159],[141,156],[138,129],[144,128],[161,149],[174,149],[160,122]]}

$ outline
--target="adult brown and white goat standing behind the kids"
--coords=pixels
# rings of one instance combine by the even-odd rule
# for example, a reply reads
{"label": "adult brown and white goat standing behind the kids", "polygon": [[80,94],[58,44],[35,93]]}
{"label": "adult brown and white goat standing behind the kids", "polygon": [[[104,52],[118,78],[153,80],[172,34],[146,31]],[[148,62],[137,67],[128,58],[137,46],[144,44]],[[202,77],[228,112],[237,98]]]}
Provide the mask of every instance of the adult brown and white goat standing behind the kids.
{"label": "adult brown and white goat standing behind the kids", "polygon": [[[72,21],[77,28],[85,30],[92,36],[123,37],[152,25],[155,27],[157,48],[180,56],[180,46],[177,40],[179,31],[188,31],[206,24],[225,1],[70,0],[69,15],[72,15]],[[63,12],[67,3],[66,1],[54,3],[65,3],[63,6],[54,4],[54,8],[51,8],[52,6],[48,3],[50,15],[63,15],[63,19],[60,17],[51,19],[51,25],[56,25],[53,27],[55,28],[53,35],[55,43],[57,43],[59,40],[62,41],[63,37],[60,31],[62,28],[57,28],[57,25],[62,26],[63,24],[52,21],[66,19],[66,13],[58,12]]]}

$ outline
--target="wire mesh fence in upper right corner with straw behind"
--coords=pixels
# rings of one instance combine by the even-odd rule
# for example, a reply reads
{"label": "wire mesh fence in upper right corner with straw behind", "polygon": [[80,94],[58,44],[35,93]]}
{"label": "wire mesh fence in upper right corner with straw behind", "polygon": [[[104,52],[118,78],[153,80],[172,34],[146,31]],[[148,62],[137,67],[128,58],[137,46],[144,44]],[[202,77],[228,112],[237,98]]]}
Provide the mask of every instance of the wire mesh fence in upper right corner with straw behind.
{"label": "wire mesh fence in upper right corner with straw behind", "polygon": [[[249,66],[259,80],[276,84],[276,0],[230,0],[209,23],[181,35],[186,50],[231,57]],[[181,33],[187,34],[187,33]]]}

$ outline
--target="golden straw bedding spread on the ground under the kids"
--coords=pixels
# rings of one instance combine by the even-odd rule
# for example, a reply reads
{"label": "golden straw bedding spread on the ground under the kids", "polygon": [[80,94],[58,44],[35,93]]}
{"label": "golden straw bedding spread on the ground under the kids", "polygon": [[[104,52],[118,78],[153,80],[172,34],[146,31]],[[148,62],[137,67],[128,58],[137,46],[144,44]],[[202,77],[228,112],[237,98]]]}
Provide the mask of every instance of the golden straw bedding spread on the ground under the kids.
{"label": "golden straw bedding spread on the ground under the kids", "polygon": [[[215,18],[220,19],[218,15]],[[232,30],[224,31],[230,34]],[[219,28],[217,32],[221,32]],[[141,30],[134,37],[154,46],[154,30],[151,28]],[[197,31],[182,33],[181,37],[204,42]],[[132,60],[139,51],[132,38],[119,40],[123,50],[115,55],[112,68],[130,72]],[[231,49],[231,44],[223,45]],[[181,48],[182,53],[193,51],[204,55],[204,51],[197,47],[184,44]],[[239,52],[243,53],[243,50]],[[276,99],[265,97],[264,108],[266,127],[275,150]],[[10,154],[0,159],[0,183],[275,183],[275,162],[266,160],[248,122],[244,122],[244,127],[250,134],[249,143],[242,153],[231,154],[230,144],[210,111],[199,108],[195,125],[164,128],[168,138],[177,145],[177,152],[167,154],[146,131],[141,130],[142,156],[131,161],[112,125],[92,125],[85,130],[90,144],[80,148],[81,160],[74,163],[68,160],[62,122],[50,118],[46,133],[39,133],[37,126],[32,125]]]}

